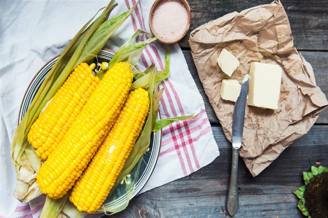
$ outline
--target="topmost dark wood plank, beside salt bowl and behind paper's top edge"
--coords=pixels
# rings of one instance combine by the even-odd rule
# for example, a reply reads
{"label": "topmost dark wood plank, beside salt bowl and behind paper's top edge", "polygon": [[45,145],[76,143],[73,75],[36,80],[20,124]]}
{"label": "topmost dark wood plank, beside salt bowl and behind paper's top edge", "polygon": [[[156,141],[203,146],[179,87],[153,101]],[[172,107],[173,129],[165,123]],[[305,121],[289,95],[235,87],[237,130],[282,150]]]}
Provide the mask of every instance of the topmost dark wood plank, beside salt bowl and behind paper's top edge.
{"label": "topmost dark wood plank, beside salt bowl and behind paper's top edge", "polygon": [[[186,36],[179,42],[181,47],[189,47],[190,32],[198,26],[217,19],[227,13],[269,4],[270,0],[226,1],[226,0],[189,0],[192,10],[191,25]],[[281,1],[294,36],[297,49],[327,50],[328,49],[328,1]]]}

